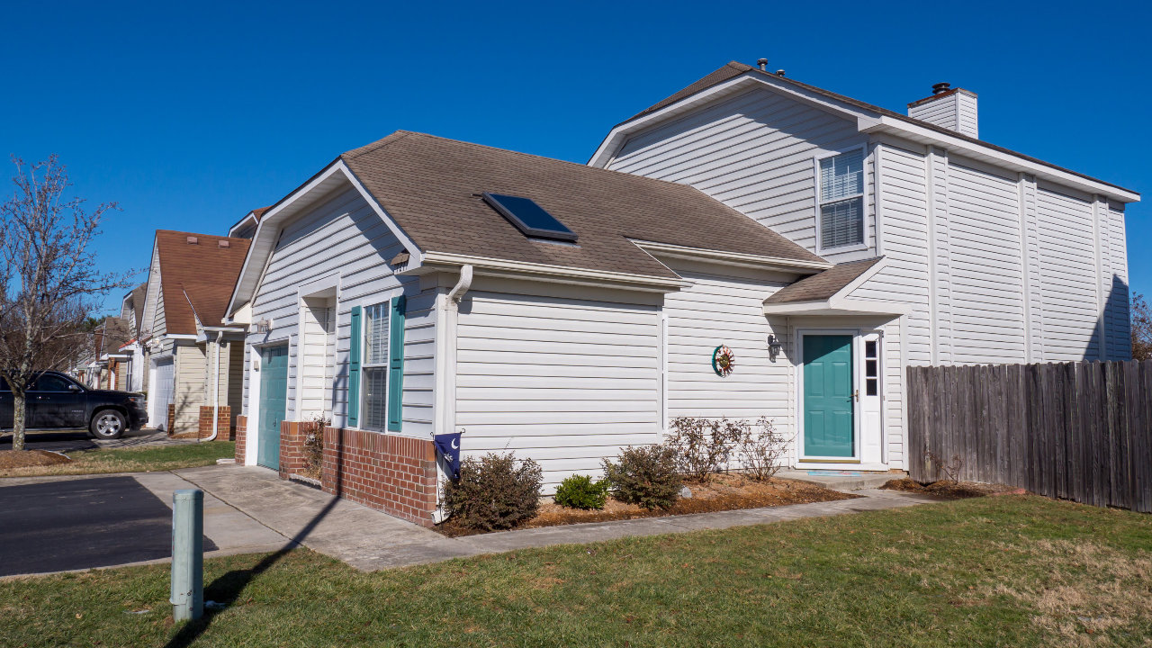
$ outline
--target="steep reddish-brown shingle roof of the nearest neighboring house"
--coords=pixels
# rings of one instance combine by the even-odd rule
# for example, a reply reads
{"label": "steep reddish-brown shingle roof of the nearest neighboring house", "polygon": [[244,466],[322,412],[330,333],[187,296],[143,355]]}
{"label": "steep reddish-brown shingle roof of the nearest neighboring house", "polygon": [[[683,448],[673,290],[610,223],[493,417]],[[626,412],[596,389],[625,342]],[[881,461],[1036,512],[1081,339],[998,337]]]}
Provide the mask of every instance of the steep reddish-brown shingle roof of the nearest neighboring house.
{"label": "steep reddish-brown shingle roof of the nearest neighboring house", "polygon": [[[196,239],[196,243],[189,243],[190,238]],[[221,241],[228,247],[221,247]],[[250,242],[248,239],[157,229],[160,289],[168,333],[196,334],[196,316],[204,326],[220,325]]]}

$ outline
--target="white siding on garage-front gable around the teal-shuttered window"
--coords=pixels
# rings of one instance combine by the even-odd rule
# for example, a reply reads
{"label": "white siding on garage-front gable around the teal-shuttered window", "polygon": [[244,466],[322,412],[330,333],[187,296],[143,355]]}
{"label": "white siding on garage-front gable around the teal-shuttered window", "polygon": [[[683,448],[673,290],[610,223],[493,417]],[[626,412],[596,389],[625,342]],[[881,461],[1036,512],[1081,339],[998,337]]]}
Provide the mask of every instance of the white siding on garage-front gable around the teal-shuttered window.
{"label": "white siding on garage-front gable around the teal-shuttered window", "polygon": [[[408,296],[404,334],[403,429],[400,434],[427,438],[432,430],[433,349],[435,346],[434,289],[420,289],[416,278],[396,277],[388,259],[403,251],[388,226],[353,188],[339,191],[308,209],[288,224],[260,286],[252,300],[252,319],[270,319],[267,334],[252,332],[250,345],[288,342],[288,420],[298,420],[302,408],[296,400],[298,287],[329,278],[340,279],[336,304],[335,354],[332,378],[332,417],[336,427],[347,425],[348,349],[351,307],[379,303],[400,294]],[[250,363],[247,363],[250,364]],[[244,407],[251,380],[245,364]],[[362,391],[363,394],[363,391]]]}

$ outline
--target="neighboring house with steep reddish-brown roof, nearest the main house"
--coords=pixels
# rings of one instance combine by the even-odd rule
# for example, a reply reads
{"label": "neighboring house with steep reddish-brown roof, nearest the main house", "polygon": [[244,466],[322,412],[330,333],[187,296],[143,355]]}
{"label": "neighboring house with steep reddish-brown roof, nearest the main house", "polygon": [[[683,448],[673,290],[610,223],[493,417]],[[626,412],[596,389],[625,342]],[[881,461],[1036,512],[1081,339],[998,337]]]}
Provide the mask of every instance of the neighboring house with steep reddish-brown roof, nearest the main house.
{"label": "neighboring house with steep reddish-brown roof, nearest the main house", "polygon": [[157,231],[139,341],[150,425],[230,434],[240,409],[243,330],[222,325],[247,239]]}

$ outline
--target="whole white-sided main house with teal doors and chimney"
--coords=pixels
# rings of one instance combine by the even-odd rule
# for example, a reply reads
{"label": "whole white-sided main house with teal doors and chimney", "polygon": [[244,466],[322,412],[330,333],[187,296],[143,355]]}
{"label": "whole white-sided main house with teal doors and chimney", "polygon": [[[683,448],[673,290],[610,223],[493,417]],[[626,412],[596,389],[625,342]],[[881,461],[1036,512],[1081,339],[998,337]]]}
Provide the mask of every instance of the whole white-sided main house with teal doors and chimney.
{"label": "whole white-sided main house with teal doors and chimney", "polygon": [[911,110],[945,126],[732,63],[591,166],[402,131],[340,156],[263,213],[232,295],[237,459],[290,473],[331,419],[323,487],[430,523],[435,434],[548,489],[676,416],[887,470],[910,364],[1127,357],[1138,195],[950,130],[967,91]]}

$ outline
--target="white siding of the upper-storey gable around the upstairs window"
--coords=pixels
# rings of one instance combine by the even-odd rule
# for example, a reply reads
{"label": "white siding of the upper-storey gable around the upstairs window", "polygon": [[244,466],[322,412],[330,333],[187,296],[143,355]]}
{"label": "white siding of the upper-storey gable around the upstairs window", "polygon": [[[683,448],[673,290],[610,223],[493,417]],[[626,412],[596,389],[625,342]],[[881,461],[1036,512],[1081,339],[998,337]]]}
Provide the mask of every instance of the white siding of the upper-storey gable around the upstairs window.
{"label": "white siding of the upper-storey gable around the upstairs window", "polygon": [[[866,142],[855,120],[758,89],[632,135],[607,168],[691,184],[816,251],[812,159]],[[871,166],[865,161],[869,176]],[[864,236],[871,246],[871,191],[866,195]],[[824,256],[841,262],[873,254],[828,250]]]}

